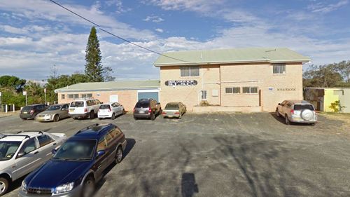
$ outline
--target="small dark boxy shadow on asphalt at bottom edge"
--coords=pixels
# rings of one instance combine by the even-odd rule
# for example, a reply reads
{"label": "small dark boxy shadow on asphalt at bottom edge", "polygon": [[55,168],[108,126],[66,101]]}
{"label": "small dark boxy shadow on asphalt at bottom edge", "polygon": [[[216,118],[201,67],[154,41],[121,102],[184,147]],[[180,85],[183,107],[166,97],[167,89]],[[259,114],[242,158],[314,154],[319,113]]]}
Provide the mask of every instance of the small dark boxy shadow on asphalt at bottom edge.
{"label": "small dark boxy shadow on asphalt at bottom edge", "polygon": [[192,197],[193,194],[199,192],[200,191],[196,183],[195,174],[183,173],[181,178],[181,196]]}

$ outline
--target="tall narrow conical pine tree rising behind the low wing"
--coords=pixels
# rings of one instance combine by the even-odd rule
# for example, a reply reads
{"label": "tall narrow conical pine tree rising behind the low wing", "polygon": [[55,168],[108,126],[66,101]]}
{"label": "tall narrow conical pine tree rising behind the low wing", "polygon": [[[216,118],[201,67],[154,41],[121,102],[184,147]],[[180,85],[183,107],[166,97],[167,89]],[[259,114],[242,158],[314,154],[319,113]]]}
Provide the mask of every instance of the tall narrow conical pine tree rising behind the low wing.
{"label": "tall narrow conical pine tree rising behind the low wing", "polygon": [[104,69],[101,63],[102,56],[101,50],[99,50],[99,39],[97,38],[95,27],[91,28],[85,52],[85,75],[87,76],[88,81],[104,81]]}

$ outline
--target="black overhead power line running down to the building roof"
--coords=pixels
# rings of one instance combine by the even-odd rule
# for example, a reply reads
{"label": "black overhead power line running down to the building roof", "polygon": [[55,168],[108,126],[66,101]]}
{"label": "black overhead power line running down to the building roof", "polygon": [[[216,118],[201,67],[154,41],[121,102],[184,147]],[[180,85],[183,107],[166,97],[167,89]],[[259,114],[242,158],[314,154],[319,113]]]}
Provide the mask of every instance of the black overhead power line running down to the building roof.
{"label": "black overhead power line running down to the building roof", "polygon": [[134,46],[137,46],[137,47],[139,47],[139,48],[143,48],[144,50],[148,50],[148,51],[150,51],[150,52],[152,52],[152,53],[161,55],[161,56],[163,56],[163,57],[168,57],[168,58],[170,58],[170,59],[178,60],[178,61],[181,61],[181,62],[195,63],[195,62],[189,62],[189,61],[186,61],[186,60],[181,60],[181,59],[178,59],[178,58],[176,58],[176,57],[170,57],[170,56],[168,56],[168,55],[164,55],[164,54],[162,54],[162,53],[159,53],[159,52],[157,52],[157,51],[155,51],[155,50],[146,48],[146,47],[144,47],[144,46],[140,46],[140,45],[137,44],[137,43],[134,43],[134,42],[132,42],[132,41],[129,41],[129,40],[127,40],[127,39],[124,39],[123,37],[117,36],[116,34],[113,34],[113,33],[109,32],[109,31],[103,29],[102,26],[101,26],[101,25],[98,25],[96,22],[92,22],[92,20],[89,20],[89,19],[83,17],[82,15],[79,15],[78,13],[76,13],[76,12],[74,12],[74,11],[71,11],[69,8],[66,8],[65,6],[62,6],[61,4],[57,3],[56,1],[53,1],[53,0],[50,0],[50,1],[51,1],[53,4],[56,4],[57,6],[59,6],[59,7],[61,7],[61,8],[64,8],[66,11],[69,11],[70,13],[73,13],[73,15],[76,15],[76,16],[78,16],[79,18],[82,18],[83,20],[86,20],[87,22],[90,22],[91,24],[95,25],[96,27],[99,27],[99,29],[100,29],[102,32],[106,32],[107,34],[110,34],[111,36],[115,36],[116,38],[118,38],[118,39],[120,39],[120,40],[122,40],[122,41],[125,41],[125,42],[127,42],[127,43],[130,43],[130,44],[132,44],[132,45],[134,45]]}

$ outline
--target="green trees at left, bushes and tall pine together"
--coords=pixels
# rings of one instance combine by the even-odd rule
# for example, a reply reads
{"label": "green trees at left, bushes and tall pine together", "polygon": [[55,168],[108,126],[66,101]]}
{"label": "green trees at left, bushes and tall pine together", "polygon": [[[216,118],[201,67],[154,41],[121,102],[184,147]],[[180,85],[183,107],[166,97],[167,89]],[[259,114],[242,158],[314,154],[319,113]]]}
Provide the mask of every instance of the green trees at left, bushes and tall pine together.
{"label": "green trees at left, bushes and tall pine together", "polygon": [[38,83],[20,79],[18,76],[0,76],[0,92],[3,104],[15,104],[16,108],[25,106],[23,91],[27,91],[28,104],[45,102],[57,102],[57,94],[54,90],[71,86],[76,83],[114,81],[113,69],[102,65],[102,54],[99,49],[99,39],[95,27],[91,28],[87,46],[85,48],[85,73],[58,74],[55,65],[51,69],[46,82]]}

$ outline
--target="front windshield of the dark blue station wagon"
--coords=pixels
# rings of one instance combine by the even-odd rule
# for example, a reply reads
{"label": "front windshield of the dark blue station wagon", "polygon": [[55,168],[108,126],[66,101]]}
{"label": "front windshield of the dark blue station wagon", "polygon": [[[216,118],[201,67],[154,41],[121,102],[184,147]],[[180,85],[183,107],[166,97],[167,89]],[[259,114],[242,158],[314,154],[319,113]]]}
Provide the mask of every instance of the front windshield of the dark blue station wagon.
{"label": "front windshield of the dark blue station wagon", "polygon": [[62,144],[52,159],[57,160],[91,160],[97,140],[69,140]]}

